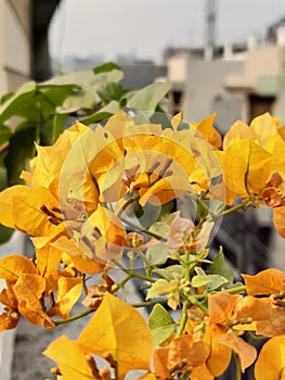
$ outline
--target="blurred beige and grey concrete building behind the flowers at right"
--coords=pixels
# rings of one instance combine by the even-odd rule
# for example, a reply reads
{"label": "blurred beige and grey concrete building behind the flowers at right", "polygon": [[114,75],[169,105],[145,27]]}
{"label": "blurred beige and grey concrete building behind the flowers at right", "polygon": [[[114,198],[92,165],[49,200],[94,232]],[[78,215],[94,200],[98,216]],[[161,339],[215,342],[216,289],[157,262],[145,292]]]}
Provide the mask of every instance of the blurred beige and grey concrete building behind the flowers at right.
{"label": "blurred beige and grey concrete building behind the flowers at right", "polygon": [[217,127],[225,132],[242,118],[270,112],[285,122],[285,18],[268,29],[267,40],[217,47],[212,60],[203,49],[165,52],[168,79],[173,84],[170,113],[183,112],[197,122],[218,111]]}

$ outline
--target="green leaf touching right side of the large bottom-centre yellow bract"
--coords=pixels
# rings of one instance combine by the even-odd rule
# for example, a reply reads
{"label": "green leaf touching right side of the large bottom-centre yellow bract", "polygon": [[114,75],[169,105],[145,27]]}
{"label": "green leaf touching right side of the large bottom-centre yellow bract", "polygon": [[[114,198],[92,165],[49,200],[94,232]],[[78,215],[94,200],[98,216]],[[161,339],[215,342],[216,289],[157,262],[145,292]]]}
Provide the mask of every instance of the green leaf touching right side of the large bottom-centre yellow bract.
{"label": "green leaf touching right side of the large bottom-centre yellow bract", "polygon": [[154,345],[159,345],[174,332],[177,325],[167,311],[160,304],[156,304],[150,314],[148,326]]}

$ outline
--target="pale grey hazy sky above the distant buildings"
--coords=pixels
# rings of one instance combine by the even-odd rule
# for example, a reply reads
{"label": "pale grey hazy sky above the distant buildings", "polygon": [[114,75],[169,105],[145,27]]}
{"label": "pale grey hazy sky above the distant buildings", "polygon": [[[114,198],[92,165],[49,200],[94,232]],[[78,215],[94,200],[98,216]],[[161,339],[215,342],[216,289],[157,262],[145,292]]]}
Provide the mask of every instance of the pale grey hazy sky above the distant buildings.
{"label": "pale grey hazy sky above the distant buildings", "polygon": [[[118,53],[161,59],[167,46],[203,46],[206,0],[62,0],[54,14],[53,56]],[[285,17],[284,0],[217,0],[216,35],[220,43],[264,35]]]}

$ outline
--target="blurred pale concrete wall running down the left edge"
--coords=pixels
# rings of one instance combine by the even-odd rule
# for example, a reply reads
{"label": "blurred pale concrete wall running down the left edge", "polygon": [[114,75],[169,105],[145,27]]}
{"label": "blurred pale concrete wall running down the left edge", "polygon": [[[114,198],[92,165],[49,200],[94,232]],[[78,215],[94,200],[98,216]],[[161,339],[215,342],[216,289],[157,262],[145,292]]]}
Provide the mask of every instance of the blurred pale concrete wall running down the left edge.
{"label": "blurred pale concrete wall running down the left edge", "polygon": [[[29,79],[30,40],[30,0],[0,0],[0,97]],[[0,245],[0,257],[11,253],[24,253],[23,235]],[[11,378],[14,337],[15,330],[0,332],[0,380]]]}

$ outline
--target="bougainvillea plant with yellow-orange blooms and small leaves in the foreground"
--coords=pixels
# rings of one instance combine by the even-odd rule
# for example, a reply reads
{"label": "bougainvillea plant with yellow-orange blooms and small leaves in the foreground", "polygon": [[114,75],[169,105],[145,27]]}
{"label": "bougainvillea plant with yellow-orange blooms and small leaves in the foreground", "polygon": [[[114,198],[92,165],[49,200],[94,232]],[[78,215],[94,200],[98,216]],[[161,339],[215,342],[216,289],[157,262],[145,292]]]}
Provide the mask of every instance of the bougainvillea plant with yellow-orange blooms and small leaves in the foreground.
{"label": "bougainvillea plant with yellow-orange blooms and small leaves in the foreground", "polygon": [[[178,114],[160,125],[121,110],[91,127],[77,122],[53,145],[37,144],[25,185],[0,193],[0,223],[29,235],[36,252],[0,259],[0,330],[22,317],[53,329],[93,314],[77,340],[44,351],[57,379],[140,370],[144,380],[211,380],[232,356],[236,379],[251,365],[257,380],[285,379],[285,273],[236,282],[222,248],[209,254],[237,210],[272,207],[285,237],[285,127],[263,114],[222,139],[213,119]],[[145,294],[137,304],[133,279]],[[82,293],[86,311],[70,317]]]}

